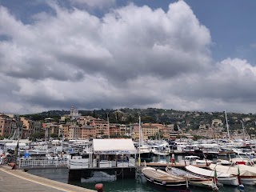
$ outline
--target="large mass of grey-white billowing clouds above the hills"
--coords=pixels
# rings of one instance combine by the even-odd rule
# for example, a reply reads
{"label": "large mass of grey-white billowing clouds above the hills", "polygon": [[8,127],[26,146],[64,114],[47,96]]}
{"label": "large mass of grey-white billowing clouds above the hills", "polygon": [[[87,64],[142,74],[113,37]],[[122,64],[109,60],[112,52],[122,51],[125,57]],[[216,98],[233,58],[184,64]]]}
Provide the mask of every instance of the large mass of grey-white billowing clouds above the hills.
{"label": "large mass of grey-white billowing clouds above the hills", "polygon": [[214,63],[210,30],[186,2],[171,3],[166,12],[131,3],[101,18],[50,7],[54,14],[38,13],[30,24],[0,8],[0,37],[7,37],[0,40],[0,77],[7,79],[0,97],[12,103],[0,110],[240,110],[230,102],[253,108],[246,82],[254,82],[254,67],[239,58]]}

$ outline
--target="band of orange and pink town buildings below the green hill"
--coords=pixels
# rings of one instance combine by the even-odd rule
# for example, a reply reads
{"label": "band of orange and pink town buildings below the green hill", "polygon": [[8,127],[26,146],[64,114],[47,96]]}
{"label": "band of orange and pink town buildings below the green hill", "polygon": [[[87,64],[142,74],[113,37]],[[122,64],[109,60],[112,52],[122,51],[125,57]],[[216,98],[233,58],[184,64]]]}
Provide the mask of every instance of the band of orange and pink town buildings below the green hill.
{"label": "band of orange and pink town buildings below the green hill", "polygon": [[[201,124],[198,130],[184,128],[174,131],[174,124],[142,123],[143,139],[149,138],[193,138],[193,135],[205,138],[228,138],[222,120],[214,119],[210,125]],[[139,138],[139,124],[115,124],[108,120],[82,116],[78,110],[71,107],[70,114],[62,116],[58,122],[53,118],[45,118],[44,122],[32,121],[14,114],[0,114],[1,138],[33,138],[35,134],[45,134],[45,139],[51,135],[66,139],[87,138]],[[236,136],[250,138],[248,134],[236,133]]]}

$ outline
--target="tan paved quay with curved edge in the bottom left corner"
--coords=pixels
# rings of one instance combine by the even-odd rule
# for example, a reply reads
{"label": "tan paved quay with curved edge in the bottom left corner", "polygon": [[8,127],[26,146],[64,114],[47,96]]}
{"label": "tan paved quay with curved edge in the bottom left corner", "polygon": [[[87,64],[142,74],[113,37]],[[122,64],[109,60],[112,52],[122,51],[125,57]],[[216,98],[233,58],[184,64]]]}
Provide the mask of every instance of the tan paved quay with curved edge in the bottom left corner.
{"label": "tan paved quay with curved edge in the bottom left corner", "polygon": [[95,192],[80,186],[56,182],[41,178],[23,170],[12,170],[10,166],[0,166],[0,191],[35,191],[35,192]]}

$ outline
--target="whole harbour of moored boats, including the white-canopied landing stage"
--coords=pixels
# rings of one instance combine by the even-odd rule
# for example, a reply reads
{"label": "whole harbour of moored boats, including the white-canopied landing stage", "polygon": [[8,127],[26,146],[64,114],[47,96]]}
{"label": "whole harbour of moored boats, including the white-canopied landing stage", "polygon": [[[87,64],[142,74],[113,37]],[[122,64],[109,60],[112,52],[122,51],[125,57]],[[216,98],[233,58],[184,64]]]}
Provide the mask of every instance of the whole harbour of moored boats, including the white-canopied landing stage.
{"label": "whole harbour of moored boats, including the white-canopied landing stage", "polygon": [[231,140],[230,135],[228,140],[148,139],[143,136],[140,116],[138,121],[138,140],[96,137],[64,141],[63,137],[48,139],[47,134],[35,142],[4,139],[0,141],[1,164],[19,174],[25,173],[22,170],[31,174],[55,170],[51,179],[58,180],[58,173],[65,173],[65,183],[75,186],[104,182],[106,191],[113,182],[132,180],[134,185],[170,191],[230,187],[243,191],[256,186],[256,140]]}

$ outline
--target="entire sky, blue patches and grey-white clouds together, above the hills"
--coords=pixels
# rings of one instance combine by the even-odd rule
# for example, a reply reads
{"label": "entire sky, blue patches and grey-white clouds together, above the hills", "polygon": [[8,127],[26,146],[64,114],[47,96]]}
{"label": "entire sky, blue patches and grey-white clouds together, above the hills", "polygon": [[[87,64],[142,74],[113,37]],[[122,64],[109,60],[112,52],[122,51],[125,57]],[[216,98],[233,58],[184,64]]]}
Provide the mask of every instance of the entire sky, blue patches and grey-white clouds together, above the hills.
{"label": "entire sky, blue patches and grey-white clouds together, above the hills", "polygon": [[255,0],[0,0],[0,113],[255,113]]}

